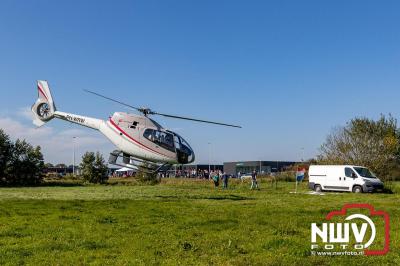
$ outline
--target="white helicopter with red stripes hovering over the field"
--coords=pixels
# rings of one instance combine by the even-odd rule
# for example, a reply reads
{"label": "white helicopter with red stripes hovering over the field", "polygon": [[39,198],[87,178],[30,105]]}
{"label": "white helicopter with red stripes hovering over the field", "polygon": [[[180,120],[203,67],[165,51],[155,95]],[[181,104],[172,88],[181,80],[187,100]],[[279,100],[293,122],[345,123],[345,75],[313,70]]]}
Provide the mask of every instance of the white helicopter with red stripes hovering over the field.
{"label": "white helicopter with red stripes hovering over the field", "polygon": [[[173,164],[188,164],[195,159],[193,149],[177,133],[164,129],[149,115],[191,120],[228,127],[240,126],[181,117],[154,112],[149,108],[137,108],[96,92],[86,92],[119,103],[142,115],[115,112],[108,120],[101,120],[71,113],[57,111],[47,81],[38,80],[38,99],[32,106],[33,123],[40,127],[53,118],[62,119],[81,126],[99,130],[115,146],[117,150],[110,153],[109,163],[132,169],[145,167],[149,172],[164,171]],[[117,162],[122,157],[122,162]]]}

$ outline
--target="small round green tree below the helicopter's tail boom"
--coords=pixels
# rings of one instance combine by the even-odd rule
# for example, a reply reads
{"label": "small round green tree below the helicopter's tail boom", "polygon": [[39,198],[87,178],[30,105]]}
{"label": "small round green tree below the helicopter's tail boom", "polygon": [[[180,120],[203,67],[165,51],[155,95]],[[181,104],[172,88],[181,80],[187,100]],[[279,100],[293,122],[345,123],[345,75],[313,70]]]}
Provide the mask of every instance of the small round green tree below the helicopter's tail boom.
{"label": "small round green tree below the helicopter's tail boom", "polygon": [[81,162],[82,177],[90,183],[104,183],[107,181],[107,165],[103,156],[96,152],[86,152]]}

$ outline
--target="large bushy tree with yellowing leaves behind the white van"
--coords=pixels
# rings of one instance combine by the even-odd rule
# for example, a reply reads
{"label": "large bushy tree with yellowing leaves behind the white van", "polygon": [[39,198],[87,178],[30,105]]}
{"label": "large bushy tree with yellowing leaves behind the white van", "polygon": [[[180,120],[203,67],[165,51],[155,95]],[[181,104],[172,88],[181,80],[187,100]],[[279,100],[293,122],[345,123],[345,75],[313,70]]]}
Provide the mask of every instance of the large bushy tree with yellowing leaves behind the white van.
{"label": "large bushy tree with yellowing leaves behind the white van", "polygon": [[321,146],[318,161],[370,168],[383,179],[392,178],[400,166],[400,131],[391,115],[374,121],[352,119],[336,128]]}

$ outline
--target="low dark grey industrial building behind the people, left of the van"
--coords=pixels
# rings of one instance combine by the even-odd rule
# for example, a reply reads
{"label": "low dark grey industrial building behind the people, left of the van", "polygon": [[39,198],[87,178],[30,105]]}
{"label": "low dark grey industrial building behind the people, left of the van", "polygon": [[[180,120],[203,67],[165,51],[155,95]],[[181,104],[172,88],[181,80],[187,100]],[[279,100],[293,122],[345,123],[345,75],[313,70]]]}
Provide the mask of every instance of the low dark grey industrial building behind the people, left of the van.
{"label": "low dark grey industrial building behind the people, left of the van", "polygon": [[258,173],[270,174],[282,172],[287,168],[297,164],[298,162],[287,161],[241,161],[241,162],[226,162],[224,163],[224,171],[229,175],[237,175],[251,173],[257,171]]}

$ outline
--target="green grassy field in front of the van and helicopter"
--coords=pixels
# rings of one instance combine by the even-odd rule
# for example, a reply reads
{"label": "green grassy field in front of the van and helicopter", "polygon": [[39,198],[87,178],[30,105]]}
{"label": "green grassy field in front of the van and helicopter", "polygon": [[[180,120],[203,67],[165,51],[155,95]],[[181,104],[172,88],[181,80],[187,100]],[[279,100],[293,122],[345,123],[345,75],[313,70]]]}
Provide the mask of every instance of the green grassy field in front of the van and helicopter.
{"label": "green grassy field in front of the van and helicopter", "polygon": [[[400,194],[293,189],[294,183],[264,182],[250,191],[238,182],[223,191],[197,180],[0,188],[0,264],[400,264]],[[345,203],[389,212],[388,255],[310,256],[310,224]]]}

